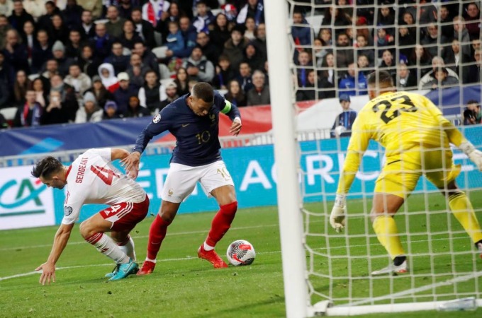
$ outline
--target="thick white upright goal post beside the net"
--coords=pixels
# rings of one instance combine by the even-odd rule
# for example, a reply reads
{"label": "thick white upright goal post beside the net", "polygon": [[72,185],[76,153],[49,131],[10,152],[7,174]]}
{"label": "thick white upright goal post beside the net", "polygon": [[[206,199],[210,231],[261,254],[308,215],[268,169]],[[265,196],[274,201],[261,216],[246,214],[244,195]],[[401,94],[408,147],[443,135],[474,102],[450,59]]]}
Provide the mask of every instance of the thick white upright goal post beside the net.
{"label": "thick white upright goal post beside the net", "polygon": [[308,288],[306,257],[303,248],[302,201],[298,183],[298,143],[296,141],[295,112],[288,28],[288,3],[264,1],[267,28],[267,51],[271,83],[271,117],[274,133],[274,158],[281,233],[286,317],[308,317]]}

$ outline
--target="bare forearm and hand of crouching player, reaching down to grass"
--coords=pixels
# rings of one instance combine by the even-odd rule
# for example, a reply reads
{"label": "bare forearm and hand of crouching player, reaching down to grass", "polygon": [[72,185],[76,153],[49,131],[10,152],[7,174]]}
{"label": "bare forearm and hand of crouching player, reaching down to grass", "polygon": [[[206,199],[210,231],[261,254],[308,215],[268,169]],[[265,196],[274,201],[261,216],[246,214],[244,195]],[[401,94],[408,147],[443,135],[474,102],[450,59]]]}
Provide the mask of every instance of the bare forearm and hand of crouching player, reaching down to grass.
{"label": "bare forearm and hand of crouching player, reaching down to grass", "polygon": [[35,269],[35,271],[42,271],[42,275],[40,275],[40,280],[38,281],[42,285],[45,285],[45,283],[50,284],[51,281],[55,282],[55,264],[64,251],[65,246],[67,246],[74,224],[75,223],[60,225],[60,228],[55,233],[54,245],[52,246],[52,251],[50,251],[47,261]]}

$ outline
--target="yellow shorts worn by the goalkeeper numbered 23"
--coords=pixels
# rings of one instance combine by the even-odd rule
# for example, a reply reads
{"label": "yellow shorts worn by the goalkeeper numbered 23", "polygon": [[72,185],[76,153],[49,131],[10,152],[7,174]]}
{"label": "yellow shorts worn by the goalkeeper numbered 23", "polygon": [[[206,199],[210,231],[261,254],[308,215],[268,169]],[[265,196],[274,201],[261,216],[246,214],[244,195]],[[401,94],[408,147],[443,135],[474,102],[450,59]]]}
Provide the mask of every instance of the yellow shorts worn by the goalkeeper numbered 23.
{"label": "yellow shorts worn by the goalkeeper numbered 23", "polygon": [[460,165],[454,165],[452,151],[420,148],[403,155],[386,158],[385,166],[376,179],[375,192],[406,198],[425,175],[438,189],[444,189],[460,174]]}

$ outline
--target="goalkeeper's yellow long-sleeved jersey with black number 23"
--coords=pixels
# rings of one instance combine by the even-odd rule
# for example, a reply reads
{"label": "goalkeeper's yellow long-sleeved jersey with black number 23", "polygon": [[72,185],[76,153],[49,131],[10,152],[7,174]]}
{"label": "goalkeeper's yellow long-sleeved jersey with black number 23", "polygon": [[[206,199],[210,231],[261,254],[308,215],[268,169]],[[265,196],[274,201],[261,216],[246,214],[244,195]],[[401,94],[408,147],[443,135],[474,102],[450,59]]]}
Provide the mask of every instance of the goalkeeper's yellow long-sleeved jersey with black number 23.
{"label": "goalkeeper's yellow long-sleeved jersey with black number 23", "polygon": [[383,93],[370,100],[352,126],[338,193],[347,193],[370,139],[386,148],[386,157],[417,148],[459,146],[464,136],[425,96],[408,92]]}

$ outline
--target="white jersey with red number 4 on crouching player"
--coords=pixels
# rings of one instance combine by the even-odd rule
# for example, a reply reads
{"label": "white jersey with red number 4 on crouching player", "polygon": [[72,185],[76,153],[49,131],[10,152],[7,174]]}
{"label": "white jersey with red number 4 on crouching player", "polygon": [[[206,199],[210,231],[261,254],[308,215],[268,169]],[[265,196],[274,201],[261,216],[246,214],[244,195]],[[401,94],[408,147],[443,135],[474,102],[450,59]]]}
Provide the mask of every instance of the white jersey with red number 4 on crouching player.
{"label": "white jersey with red number 4 on crouching player", "polygon": [[89,149],[67,171],[67,196],[62,224],[79,220],[84,204],[140,203],[145,191],[111,162],[111,148]]}

